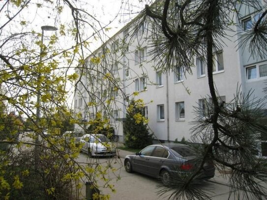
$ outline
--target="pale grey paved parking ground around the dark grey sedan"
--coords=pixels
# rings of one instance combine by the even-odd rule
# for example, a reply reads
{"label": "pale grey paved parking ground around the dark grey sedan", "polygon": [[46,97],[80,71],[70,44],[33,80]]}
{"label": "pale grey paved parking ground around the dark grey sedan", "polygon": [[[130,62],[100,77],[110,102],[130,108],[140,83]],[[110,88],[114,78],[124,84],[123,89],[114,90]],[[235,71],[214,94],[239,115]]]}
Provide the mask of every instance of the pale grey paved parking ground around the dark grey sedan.
{"label": "pale grey paved parking ground around the dark grey sedan", "polygon": [[[94,158],[98,160],[97,162],[102,163],[102,165],[111,164],[118,169],[116,172],[110,171],[108,174],[108,177],[111,178],[110,183],[114,185],[116,193],[111,193],[109,189],[102,189],[103,193],[110,194],[110,200],[168,200],[171,192],[165,193],[163,196],[158,195],[158,191],[160,190],[158,186],[161,183],[159,180],[139,173],[128,173],[125,171],[122,164],[127,154],[131,154],[131,152],[119,150],[119,158]],[[81,154],[79,159],[89,162],[86,154]],[[202,189],[208,191],[212,200],[228,199],[228,180],[224,179],[223,175],[218,171],[216,171],[214,178],[209,181],[204,181],[203,184]],[[85,186],[82,189],[83,192],[85,195]],[[237,197],[232,196],[229,200],[237,199]]]}

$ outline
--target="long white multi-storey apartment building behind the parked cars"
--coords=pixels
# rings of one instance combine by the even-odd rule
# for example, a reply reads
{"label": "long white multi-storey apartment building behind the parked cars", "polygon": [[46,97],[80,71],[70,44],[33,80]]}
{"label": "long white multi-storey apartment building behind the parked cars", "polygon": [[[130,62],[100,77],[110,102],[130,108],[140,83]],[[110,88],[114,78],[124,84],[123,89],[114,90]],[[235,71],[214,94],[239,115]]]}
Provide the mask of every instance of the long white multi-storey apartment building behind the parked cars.
{"label": "long white multi-storey apartment building behind the parked cars", "polygon": [[[253,59],[247,49],[237,50],[242,29],[248,29],[259,12],[241,12],[241,23],[232,27],[235,31],[227,31],[229,36],[224,39],[224,47],[214,52],[214,82],[220,98],[226,102],[234,98],[238,86],[245,93],[255,90],[254,96],[258,98],[266,95],[263,89],[267,87],[267,58]],[[93,118],[96,112],[109,114],[115,134],[123,141],[125,99],[143,99],[146,103],[144,114],[155,139],[172,142],[184,137],[190,140],[194,107],[205,107],[209,100],[205,62],[196,57],[192,74],[156,71],[157,63],[149,55],[153,48],[149,45],[149,24],[140,24],[132,38],[125,37],[132,29],[129,23],[91,54],[86,61],[87,69],[77,67],[77,73],[82,76],[77,82],[75,113],[81,113],[84,122]],[[91,61],[98,58],[100,61]],[[77,124],[76,128],[87,126]],[[266,146],[267,142],[262,141],[262,147]],[[266,151],[263,154],[267,155]]]}

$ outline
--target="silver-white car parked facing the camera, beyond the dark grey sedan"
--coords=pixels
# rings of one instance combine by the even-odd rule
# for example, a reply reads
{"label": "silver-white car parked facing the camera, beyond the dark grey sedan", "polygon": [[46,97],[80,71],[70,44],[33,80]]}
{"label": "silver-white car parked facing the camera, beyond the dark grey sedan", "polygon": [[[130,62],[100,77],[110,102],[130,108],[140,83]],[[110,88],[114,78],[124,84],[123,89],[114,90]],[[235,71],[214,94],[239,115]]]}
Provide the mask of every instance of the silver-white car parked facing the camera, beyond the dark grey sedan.
{"label": "silver-white car parked facing the camera, beyond the dark grey sedan", "polygon": [[83,143],[82,151],[89,156],[114,156],[115,146],[102,134],[85,134],[80,142]]}

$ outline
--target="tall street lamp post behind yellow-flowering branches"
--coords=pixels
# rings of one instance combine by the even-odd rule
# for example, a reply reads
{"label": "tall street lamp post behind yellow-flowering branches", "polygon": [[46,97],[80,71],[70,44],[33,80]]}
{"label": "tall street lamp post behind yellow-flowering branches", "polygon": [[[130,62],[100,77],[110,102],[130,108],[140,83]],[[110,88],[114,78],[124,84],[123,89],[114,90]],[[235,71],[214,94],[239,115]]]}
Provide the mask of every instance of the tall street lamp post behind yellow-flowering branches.
{"label": "tall street lamp post behind yellow-flowering branches", "polygon": [[[56,27],[53,26],[42,26],[42,35],[41,35],[41,45],[43,44],[43,40],[44,40],[44,31],[56,31],[58,30]],[[43,48],[41,46],[40,48],[40,58],[39,58],[39,63],[42,62],[42,53],[43,53]],[[38,79],[40,78],[41,74],[38,73]],[[39,124],[39,120],[40,120],[40,97],[41,97],[41,91],[40,88],[38,88],[37,90],[37,100],[36,100],[36,125],[38,126]],[[38,164],[38,160],[39,160],[39,127],[37,127],[38,130],[36,130],[35,132],[35,170],[37,170],[37,164]]]}

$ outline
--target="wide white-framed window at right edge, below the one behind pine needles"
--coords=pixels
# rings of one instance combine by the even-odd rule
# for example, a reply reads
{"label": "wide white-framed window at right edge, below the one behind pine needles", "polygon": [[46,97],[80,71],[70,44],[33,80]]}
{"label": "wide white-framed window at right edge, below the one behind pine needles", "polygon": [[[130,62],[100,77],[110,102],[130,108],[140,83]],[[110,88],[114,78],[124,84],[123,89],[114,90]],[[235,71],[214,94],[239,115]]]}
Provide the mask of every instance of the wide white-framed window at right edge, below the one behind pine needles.
{"label": "wide white-framed window at right edge, below the one behind pine needles", "polygon": [[260,63],[257,65],[246,67],[246,79],[261,79],[267,77],[267,63]]}

